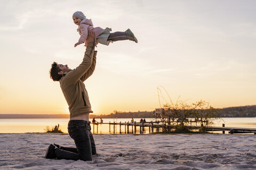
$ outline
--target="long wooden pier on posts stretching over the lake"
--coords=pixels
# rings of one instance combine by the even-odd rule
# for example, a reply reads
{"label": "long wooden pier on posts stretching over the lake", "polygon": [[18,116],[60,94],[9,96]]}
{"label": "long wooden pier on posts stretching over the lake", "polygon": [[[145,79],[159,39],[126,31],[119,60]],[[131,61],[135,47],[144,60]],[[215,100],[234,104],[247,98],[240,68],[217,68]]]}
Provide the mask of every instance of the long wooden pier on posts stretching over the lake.
{"label": "long wooden pier on posts stretching over the lake", "polygon": [[[178,123],[178,122],[177,122]],[[154,133],[154,132],[159,132],[161,128],[167,128],[167,129],[174,129],[175,125],[169,125],[169,124],[160,124],[159,122],[149,122],[149,123],[137,123],[137,122],[109,122],[109,123],[92,123],[93,128],[92,132],[97,133],[99,132],[99,125],[101,124],[108,124],[109,125],[109,134],[112,132],[113,134],[117,134],[117,127],[119,128],[119,133],[137,133],[138,126],[139,126],[139,133],[143,134],[145,133],[145,128],[148,128],[149,133]],[[96,126],[96,127],[95,127]],[[124,131],[122,131],[122,126],[124,126]],[[188,129],[191,130],[199,130],[201,129],[201,126],[186,126]],[[111,129],[113,131],[111,131]],[[222,127],[207,127],[207,131],[222,131],[224,134],[225,131],[228,131],[230,134],[235,134],[235,133],[254,133],[256,134],[256,129],[251,129],[251,128],[228,128],[225,127],[225,124],[222,124]]]}

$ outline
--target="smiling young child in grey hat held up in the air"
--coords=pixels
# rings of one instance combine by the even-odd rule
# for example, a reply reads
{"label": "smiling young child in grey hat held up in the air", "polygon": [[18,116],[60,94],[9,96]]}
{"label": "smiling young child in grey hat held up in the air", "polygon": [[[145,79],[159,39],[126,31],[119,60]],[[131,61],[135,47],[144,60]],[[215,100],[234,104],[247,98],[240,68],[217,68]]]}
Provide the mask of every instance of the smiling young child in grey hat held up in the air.
{"label": "smiling young child in grey hat held up in the air", "polygon": [[111,28],[94,28],[92,20],[86,19],[85,15],[81,11],[75,12],[72,17],[74,23],[78,25],[77,31],[79,35],[81,35],[78,43],[75,44],[75,47],[82,43],[85,43],[86,45],[87,36],[91,31],[93,31],[95,34],[94,41],[96,44],[100,43],[108,46],[110,42],[128,39],[131,41],[135,41],[135,43],[138,43],[137,38],[133,35],[130,29],[127,29],[125,32],[117,31],[110,33]]}

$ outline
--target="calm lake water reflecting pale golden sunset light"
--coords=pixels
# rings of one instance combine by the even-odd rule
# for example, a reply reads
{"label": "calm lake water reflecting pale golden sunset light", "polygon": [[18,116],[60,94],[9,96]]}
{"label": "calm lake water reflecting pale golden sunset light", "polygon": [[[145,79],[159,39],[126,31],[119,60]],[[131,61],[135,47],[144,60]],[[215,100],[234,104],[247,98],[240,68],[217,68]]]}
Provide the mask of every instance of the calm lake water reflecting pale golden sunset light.
{"label": "calm lake water reflecting pale golden sunset light", "polygon": [[[153,120],[152,118],[146,118],[147,122]],[[3,118],[0,119],[0,133],[32,133],[32,132],[45,132],[46,126],[50,128],[55,125],[60,125],[60,129],[68,133],[68,118]],[[92,121],[92,120],[90,120]],[[96,121],[100,121],[100,119],[96,119]],[[130,118],[105,118],[103,119],[104,123],[109,122],[131,122]],[[139,122],[140,118],[134,118],[134,121]],[[154,121],[154,120],[153,120]],[[256,129],[256,117],[232,117],[232,118],[222,118],[222,120],[218,120],[215,122],[214,126],[222,126],[225,124],[225,127],[232,128],[254,128]],[[91,125],[93,132],[93,125]],[[124,132],[124,126],[121,127],[121,131]],[[148,128],[145,128],[146,133],[148,133]],[[110,126],[110,131],[113,133],[114,126]],[[94,132],[97,133],[97,126],[94,126]],[[119,125],[116,126],[115,132],[119,133]],[[131,130],[130,130],[131,132]],[[98,126],[98,133],[109,133],[109,125],[102,124]],[[137,133],[139,133],[139,127],[137,129]],[[218,133],[218,132],[217,132]]]}

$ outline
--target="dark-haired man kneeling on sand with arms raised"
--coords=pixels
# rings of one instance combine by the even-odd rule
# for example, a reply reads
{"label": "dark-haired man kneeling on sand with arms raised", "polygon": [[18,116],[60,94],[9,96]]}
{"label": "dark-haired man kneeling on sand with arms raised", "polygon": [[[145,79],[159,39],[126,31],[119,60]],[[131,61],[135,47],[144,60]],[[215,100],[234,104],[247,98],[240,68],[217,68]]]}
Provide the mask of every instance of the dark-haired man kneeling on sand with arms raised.
{"label": "dark-haired man kneeling on sand with arms raised", "polygon": [[68,133],[74,139],[76,148],[68,148],[51,144],[47,151],[46,159],[71,159],[92,160],[96,154],[96,147],[91,133],[89,114],[92,113],[91,104],[84,81],[89,78],[96,64],[97,51],[94,51],[94,33],[87,38],[87,46],[83,62],[76,69],[69,69],[68,65],[53,62],[50,77],[53,81],[59,81],[70,112]]}

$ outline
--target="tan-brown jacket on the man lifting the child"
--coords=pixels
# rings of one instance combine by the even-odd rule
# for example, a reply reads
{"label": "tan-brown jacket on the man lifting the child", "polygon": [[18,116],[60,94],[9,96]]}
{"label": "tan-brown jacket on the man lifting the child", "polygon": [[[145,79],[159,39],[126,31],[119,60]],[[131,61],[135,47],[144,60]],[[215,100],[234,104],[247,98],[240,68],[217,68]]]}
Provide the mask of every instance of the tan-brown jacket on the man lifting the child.
{"label": "tan-brown jacket on the man lifting the child", "polygon": [[97,51],[94,51],[94,47],[94,43],[88,43],[83,62],[76,69],[63,73],[60,79],[60,87],[69,106],[70,118],[92,113],[84,81],[95,69]]}

